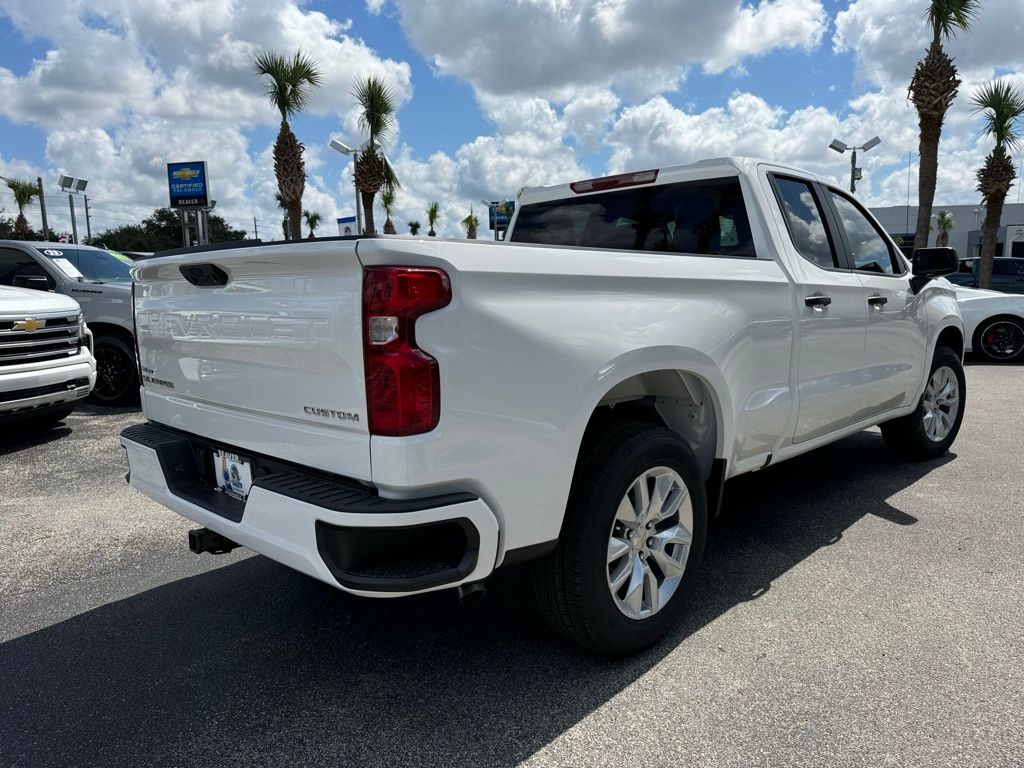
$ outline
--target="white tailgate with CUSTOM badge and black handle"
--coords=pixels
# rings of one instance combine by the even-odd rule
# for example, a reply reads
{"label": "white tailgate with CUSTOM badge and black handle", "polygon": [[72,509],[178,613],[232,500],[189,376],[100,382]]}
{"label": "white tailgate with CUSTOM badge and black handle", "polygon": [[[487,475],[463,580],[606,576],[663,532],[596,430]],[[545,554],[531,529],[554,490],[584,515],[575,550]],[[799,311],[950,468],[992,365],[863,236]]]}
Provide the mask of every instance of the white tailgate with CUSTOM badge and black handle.
{"label": "white tailgate with CUSTOM badge and black handle", "polygon": [[369,480],[355,248],[292,242],[141,265],[134,276],[146,416]]}

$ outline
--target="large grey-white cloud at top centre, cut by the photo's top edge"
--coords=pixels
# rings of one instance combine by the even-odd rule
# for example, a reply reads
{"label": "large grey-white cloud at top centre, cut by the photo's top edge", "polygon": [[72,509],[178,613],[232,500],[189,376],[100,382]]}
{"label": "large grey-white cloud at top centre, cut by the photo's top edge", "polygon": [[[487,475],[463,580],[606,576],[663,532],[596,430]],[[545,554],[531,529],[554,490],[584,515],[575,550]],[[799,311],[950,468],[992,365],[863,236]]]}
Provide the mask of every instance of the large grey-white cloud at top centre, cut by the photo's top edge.
{"label": "large grey-white cloud at top centre, cut by the photo's top edge", "polygon": [[[488,94],[564,103],[574,89],[627,86],[643,98],[686,70],[718,72],[773,48],[817,46],[819,0],[393,0],[413,45],[445,75]],[[380,3],[374,3],[379,9]]]}

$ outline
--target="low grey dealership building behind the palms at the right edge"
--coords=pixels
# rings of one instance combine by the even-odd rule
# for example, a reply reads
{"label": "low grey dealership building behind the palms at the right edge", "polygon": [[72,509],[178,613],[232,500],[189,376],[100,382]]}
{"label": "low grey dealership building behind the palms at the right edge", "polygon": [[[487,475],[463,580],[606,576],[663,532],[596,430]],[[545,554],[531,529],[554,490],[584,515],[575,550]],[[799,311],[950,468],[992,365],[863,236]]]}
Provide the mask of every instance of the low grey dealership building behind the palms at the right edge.
{"label": "low grey dealership building behind the palms at the right edge", "polygon": [[[981,250],[981,225],[985,221],[984,206],[933,206],[929,245],[935,245],[935,238],[938,236],[934,217],[939,211],[947,211],[953,217],[953,228],[949,230],[949,246],[956,249],[956,254],[962,259],[977,256]],[[897,243],[913,244],[918,206],[872,208],[871,213]],[[999,224],[995,255],[1024,258],[1024,203],[1007,203],[1002,207],[1002,219]]]}

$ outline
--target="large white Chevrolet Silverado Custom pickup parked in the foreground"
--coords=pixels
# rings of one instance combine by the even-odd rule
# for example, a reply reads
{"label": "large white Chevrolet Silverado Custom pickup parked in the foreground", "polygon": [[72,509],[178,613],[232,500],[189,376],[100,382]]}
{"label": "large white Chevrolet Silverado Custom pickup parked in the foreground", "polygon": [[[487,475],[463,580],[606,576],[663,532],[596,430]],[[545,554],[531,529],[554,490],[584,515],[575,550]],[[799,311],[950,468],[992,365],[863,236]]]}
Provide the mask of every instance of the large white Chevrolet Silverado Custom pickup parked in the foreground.
{"label": "large white Chevrolet Silverado Custom pickup parked in the foreground", "polygon": [[[824,179],[713,160],[525,193],[504,243],[348,238],[134,269],[130,482],[373,597],[534,560],[553,626],[655,642],[729,477],[964,416],[949,249],[913,265]],[[822,511],[827,514],[827,511]]]}

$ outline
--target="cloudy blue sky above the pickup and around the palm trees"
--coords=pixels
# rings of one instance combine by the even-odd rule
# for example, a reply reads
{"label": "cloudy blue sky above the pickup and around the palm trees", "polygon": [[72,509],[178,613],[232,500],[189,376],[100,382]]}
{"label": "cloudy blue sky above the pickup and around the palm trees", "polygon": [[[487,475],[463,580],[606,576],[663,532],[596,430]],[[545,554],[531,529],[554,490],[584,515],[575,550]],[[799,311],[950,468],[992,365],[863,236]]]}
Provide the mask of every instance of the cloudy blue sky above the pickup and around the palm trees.
{"label": "cloudy blue sky above the pickup and around the palm trees", "polygon": [[[367,74],[400,104],[396,218],[422,218],[437,200],[444,233],[482,196],[716,155],[842,179],[848,160],[826,148],[835,136],[882,136],[859,191],[903,203],[916,151],[906,84],[927,30],[925,3],[895,5],[204,0],[200,14],[172,0],[0,0],[0,174],[42,175],[48,191],[58,173],[88,176],[101,229],[163,204],[163,164],[205,159],[218,211],[249,229],[253,216],[275,226],[276,124],[246,62],[301,45],[329,76],[293,121],[307,146],[305,204],[329,220],[351,212],[352,196],[347,160],[326,143],[360,140],[348,91]],[[1020,82],[1021,39],[1024,3],[985,3],[976,29],[948,44],[962,92],[995,76]],[[987,151],[977,129],[962,95],[943,137],[940,202],[976,202]],[[5,193],[0,205],[11,208]]]}

